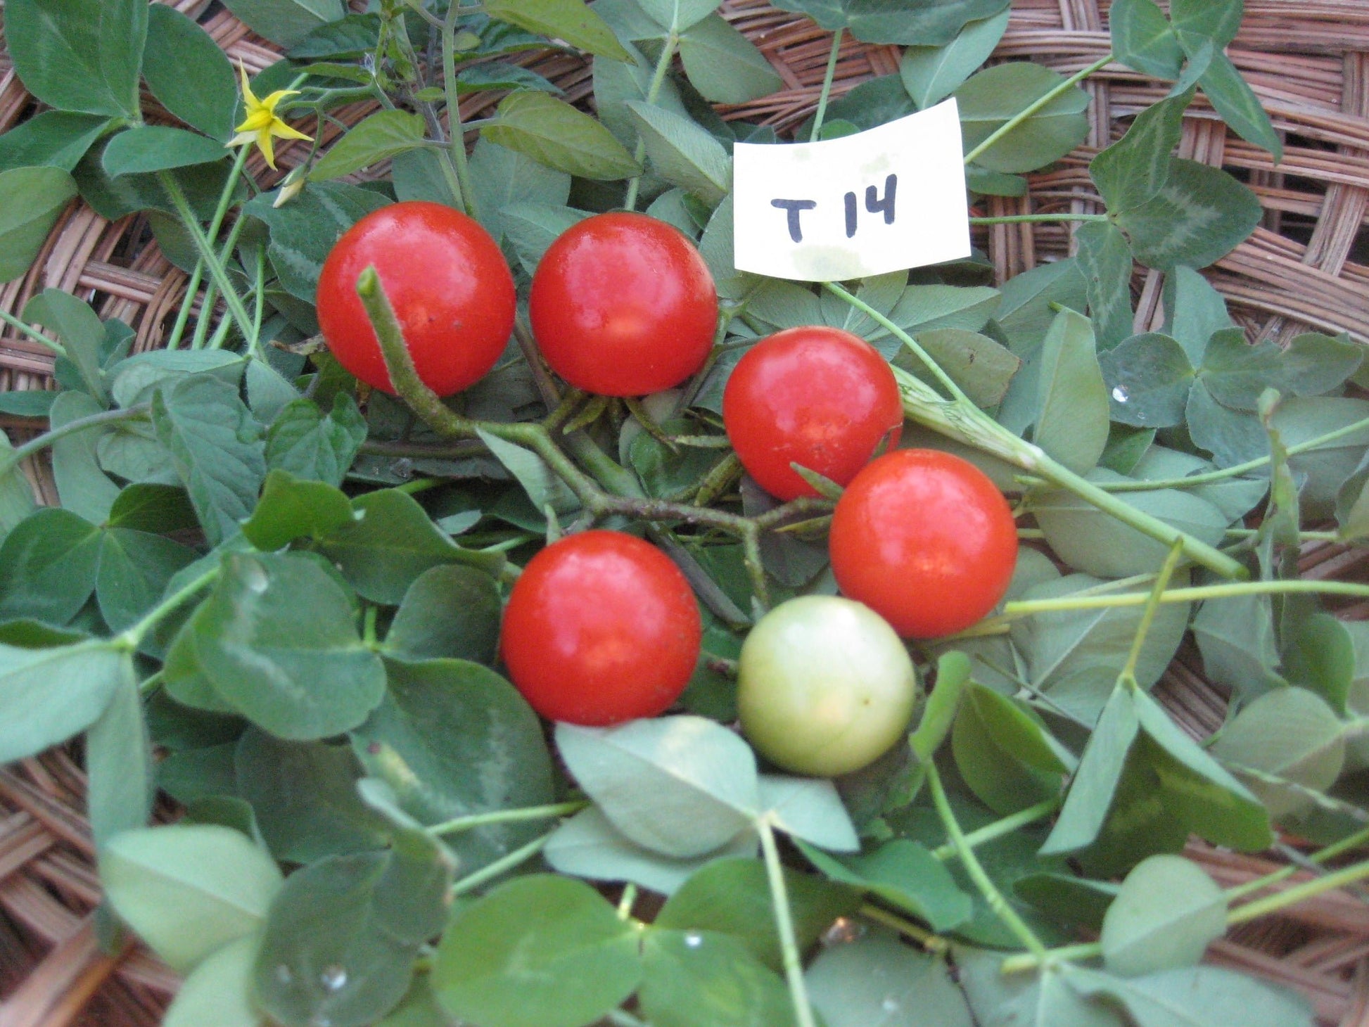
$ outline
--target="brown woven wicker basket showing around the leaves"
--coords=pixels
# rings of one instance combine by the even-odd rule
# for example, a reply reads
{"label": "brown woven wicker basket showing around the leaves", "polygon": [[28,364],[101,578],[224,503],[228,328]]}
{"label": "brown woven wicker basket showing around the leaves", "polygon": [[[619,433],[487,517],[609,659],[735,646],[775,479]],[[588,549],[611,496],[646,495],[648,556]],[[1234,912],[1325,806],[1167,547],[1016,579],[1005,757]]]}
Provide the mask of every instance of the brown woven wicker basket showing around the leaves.
{"label": "brown woven wicker basket showing around the leaves", "polygon": [[[218,4],[167,1],[197,16],[234,63],[241,60],[249,71],[277,59],[270,44]],[[995,58],[1077,71],[1109,49],[1108,3],[1014,0]],[[364,1],[352,5],[361,10]],[[726,0],[723,12],[784,81],[782,92],[723,114],[763,121],[780,131],[798,125],[816,104],[830,34],[765,0]],[[1229,53],[1284,134],[1285,151],[1275,167],[1268,153],[1229,134],[1205,101],[1188,110],[1180,153],[1235,173],[1265,207],[1254,236],[1210,268],[1209,278],[1254,337],[1285,340],[1313,327],[1348,330],[1369,344],[1369,4],[1247,0],[1246,21]],[[898,56],[895,48],[847,37],[836,66],[836,94],[895,71]],[[556,81],[568,100],[589,99],[586,63],[563,53],[533,55],[528,63]],[[1028,196],[990,200],[988,214],[1099,210],[1088,160],[1121,134],[1131,115],[1158,100],[1164,86],[1112,64],[1086,88],[1094,100],[1087,144],[1054,170],[1034,175]],[[144,100],[144,110],[156,111],[155,101]],[[475,94],[463,111],[474,116],[491,103],[487,94]],[[33,111],[0,36],[0,131]],[[356,122],[368,112],[357,105],[338,115]],[[301,156],[303,151],[282,147],[277,177]],[[272,181],[260,156],[249,162],[249,170],[257,181]],[[986,248],[1002,281],[1066,256],[1072,237],[1061,225],[1010,225],[979,234],[976,244]],[[1139,271],[1134,282],[1139,331],[1162,318],[1161,285],[1157,271]],[[0,288],[0,304],[18,312],[34,292],[64,289],[92,300],[101,316],[131,325],[136,349],[145,351],[160,345],[185,286],[186,275],[162,256],[141,216],[111,223],[78,204],[63,214],[31,271]],[[47,351],[12,333],[0,334],[0,390],[51,388],[51,368]],[[0,427],[15,441],[38,430],[36,422],[4,416]],[[55,501],[47,470],[27,471],[41,500]],[[1369,550],[1309,545],[1303,574],[1362,578],[1366,560]],[[1369,616],[1369,604],[1342,615]],[[1180,650],[1157,696],[1194,735],[1210,734],[1221,723],[1225,696],[1203,678],[1191,646]],[[1264,859],[1203,848],[1191,848],[1188,854],[1223,886],[1273,868]],[[136,946],[116,956],[101,952],[92,919],[97,901],[78,763],[59,750],[0,770],[0,1027],[134,1027],[159,1020],[177,978]],[[1369,896],[1331,893],[1243,926],[1217,942],[1209,959],[1301,989],[1322,1023],[1369,1027]]]}

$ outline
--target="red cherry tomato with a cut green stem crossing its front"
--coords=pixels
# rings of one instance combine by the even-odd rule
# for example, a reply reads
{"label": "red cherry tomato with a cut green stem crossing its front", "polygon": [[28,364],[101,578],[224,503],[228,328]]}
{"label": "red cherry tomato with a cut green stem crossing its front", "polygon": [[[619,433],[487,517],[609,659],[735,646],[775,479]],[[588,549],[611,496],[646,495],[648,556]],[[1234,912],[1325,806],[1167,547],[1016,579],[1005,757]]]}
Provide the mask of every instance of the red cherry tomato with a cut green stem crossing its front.
{"label": "red cherry tomato with a cut green stem crossing its front", "polygon": [[374,264],[419,378],[438,396],[475,385],[513,330],[513,277],[498,244],[471,218],[437,203],[382,207],[337,241],[319,275],[319,327],[356,378],[394,392],[356,279]]}

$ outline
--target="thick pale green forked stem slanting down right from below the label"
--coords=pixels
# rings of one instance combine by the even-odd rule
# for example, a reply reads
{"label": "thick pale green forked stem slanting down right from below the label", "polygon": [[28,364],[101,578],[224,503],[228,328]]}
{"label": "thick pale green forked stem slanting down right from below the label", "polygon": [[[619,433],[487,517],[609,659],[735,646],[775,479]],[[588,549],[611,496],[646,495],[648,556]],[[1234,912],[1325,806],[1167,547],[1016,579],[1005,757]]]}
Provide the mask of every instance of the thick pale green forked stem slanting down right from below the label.
{"label": "thick pale green forked stem slanting down right from below the label", "polygon": [[895,367],[894,378],[898,381],[898,389],[904,398],[904,414],[908,418],[912,418],[919,424],[924,424],[925,427],[939,431],[943,435],[960,440],[977,449],[983,449],[987,453],[993,453],[994,456],[1001,456],[1009,463],[1021,467],[1024,471],[1031,471],[1053,485],[1072,492],[1075,496],[1079,496],[1079,498],[1097,507],[1103,514],[1117,518],[1117,520],[1124,524],[1128,524],[1142,534],[1155,538],[1165,545],[1173,545],[1176,540],[1183,540],[1184,555],[1188,556],[1188,559],[1195,563],[1201,563],[1203,567],[1216,571],[1224,578],[1239,579],[1249,576],[1244,566],[1238,560],[1233,560],[1206,542],[1194,538],[1170,524],[1166,524],[1164,520],[1160,520],[1158,518],[1154,518],[1150,514],[1136,509],[1131,504],[1118,500],[1116,496],[1109,494],[1092,482],[1075,474],[1068,467],[1057,463],[1045,451],[1042,451],[1040,446],[1032,445],[1031,442],[1014,435],[1012,431],[979,409],[979,407],[976,407],[973,401],[965,396],[960,386],[951,381],[941,366],[932,360],[920,345],[917,345],[917,341],[904,331],[904,329],[864,300],[853,296],[841,285],[835,282],[824,282],[823,288],[834,296],[839,296],[856,309],[864,312],[878,325],[884,327],[886,331],[893,334],[894,338],[899,340],[904,345],[912,349],[913,353],[927,366],[928,371],[931,371],[931,374],[934,374],[950,393],[950,398],[947,400],[946,397],[938,394],[936,390],[925,382],[917,379],[908,371],[904,371],[901,367]]}

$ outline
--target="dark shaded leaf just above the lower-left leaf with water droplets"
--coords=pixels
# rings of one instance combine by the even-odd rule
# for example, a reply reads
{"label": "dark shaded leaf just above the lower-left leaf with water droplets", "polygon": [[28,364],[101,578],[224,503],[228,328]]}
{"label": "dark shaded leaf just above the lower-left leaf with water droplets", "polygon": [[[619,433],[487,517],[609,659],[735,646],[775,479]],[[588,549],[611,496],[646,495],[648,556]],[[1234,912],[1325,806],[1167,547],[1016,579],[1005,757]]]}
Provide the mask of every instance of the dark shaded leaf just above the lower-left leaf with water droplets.
{"label": "dark shaded leaf just above the lower-left leaf with water droplets", "polygon": [[363,770],[345,745],[287,742],[249,727],[234,746],[233,768],[238,794],[279,860],[312,863],[385,842],[385,823],[357,796]]}

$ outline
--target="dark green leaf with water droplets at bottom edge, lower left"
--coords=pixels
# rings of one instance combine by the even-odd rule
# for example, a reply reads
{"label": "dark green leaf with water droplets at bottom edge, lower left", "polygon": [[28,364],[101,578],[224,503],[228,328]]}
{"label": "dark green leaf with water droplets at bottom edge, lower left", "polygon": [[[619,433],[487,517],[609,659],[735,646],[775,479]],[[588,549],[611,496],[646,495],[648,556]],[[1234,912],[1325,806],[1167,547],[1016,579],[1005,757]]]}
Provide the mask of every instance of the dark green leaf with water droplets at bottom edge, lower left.
{"label": "dark green leaf with water droplets at bottom edge, lower left", "polygon": [[[409,989],[422,938],[394,930],[386,902],[405,883],[396,850],[331,856],[292,874],[271,902],[253,968],[253,997],[283,1027],[320,1020],[364,1027],[387,1013]],[[441,908],[439,875],[409,883]],[[405,904],[418,894],[402,894]]]}

